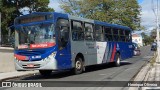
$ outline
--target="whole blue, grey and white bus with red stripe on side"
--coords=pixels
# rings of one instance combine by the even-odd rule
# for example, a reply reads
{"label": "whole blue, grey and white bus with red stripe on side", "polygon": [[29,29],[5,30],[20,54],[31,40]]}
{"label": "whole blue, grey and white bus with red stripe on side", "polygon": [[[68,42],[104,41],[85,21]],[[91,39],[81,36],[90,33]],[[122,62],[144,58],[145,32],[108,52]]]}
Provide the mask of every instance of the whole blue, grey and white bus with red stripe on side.
{"label": "whole blue, grey and white bus with red stripe on side", "polygon": [[86,66],[133,56],[131,29],[126,26],[70,16],[35,12],[17,17],[14,61],[16,70],[72,69],[80,74]]}

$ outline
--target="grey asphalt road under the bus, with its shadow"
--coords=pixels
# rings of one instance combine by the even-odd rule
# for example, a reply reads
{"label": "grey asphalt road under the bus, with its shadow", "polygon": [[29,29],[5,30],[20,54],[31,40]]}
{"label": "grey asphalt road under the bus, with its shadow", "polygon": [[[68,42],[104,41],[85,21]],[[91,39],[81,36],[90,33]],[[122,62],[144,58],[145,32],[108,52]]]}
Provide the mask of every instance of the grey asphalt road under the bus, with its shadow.
{"label": "grey asphalt road under the bus, with its shadow", "polygon": [[[134,56],[133,58],[127,59],[121,62],[120,67],[114,67],[112,64],[105,65],[95,65],[87,67],[86,71],[83,74],[73,75],[70,71],[64,72],[53,72],[49,77],[42,77],[41,75],[31,75],[26,77],[15,78],[12,80],[18,81],[130,81],[134,78],[134,76],[139,72],[145,63],[147,63],[153,55],[153,52],[150,51],[150,46],[145,46],[141,48],[141,55]],[[11,80],[11,81],[12,81]],[[83,89],[83,90],[127,90],[127,88],[123,87],[79,87],[74,88],[68,87],[63,88],[54,87],[54,88],[46,88],[46,89],[58,89],[58,90],[75,90],[75,89]],[[14,88],[8,88],[9,90],[14,90]],[[34,88],[35,89],[35,88]],[[37,90],[40,88],[36,88]],[[44,88],[43,88],[44,89]],[[17,90],[17,89],[16,89]]]}

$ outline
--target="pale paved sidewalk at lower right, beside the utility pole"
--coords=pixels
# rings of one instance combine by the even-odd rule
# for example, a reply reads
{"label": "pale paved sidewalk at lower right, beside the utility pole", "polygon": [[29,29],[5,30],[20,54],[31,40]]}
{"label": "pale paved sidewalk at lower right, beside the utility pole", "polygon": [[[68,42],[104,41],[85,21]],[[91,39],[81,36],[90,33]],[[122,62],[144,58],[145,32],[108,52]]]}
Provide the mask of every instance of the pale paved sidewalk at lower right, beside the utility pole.
{"label": "pale paved sidewalk at lower right, beside the utility pole", "polygon": [[[135,77],[134,81],[140,81],[141,83],[152,82],[156,84],[156,81],[160,81],[160,62],[157,57],[152,58],[152,60],[144,66],[140,72]],[[158,87],[130,87],[129,90],[160,90]]]}

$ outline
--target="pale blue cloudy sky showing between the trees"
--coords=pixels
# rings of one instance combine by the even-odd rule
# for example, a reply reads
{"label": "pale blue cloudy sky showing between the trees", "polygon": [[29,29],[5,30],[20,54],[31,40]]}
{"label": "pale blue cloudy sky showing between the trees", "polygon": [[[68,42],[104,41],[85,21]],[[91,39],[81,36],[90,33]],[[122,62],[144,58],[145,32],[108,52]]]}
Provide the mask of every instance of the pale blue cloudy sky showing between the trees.
{"label": "pale blue cloudy sky showing between the trees", "polygon": [[[152,1],[154,4],[152,5]],[[157,0],[138,0],[139,5],[141,6],[141,25],[146,28],[147,33],[149,33],[153,28],[155,28],[156,17],[153,13],[155,9]],[[50,0],[49,7],[54,8],[56,12],[63,12],[59,7],[59,0]],[[159,7],[160,8],[160,7]],[[160,15],[159,15],[160,16]],[[141,31],[140,31],[141,33]]]}

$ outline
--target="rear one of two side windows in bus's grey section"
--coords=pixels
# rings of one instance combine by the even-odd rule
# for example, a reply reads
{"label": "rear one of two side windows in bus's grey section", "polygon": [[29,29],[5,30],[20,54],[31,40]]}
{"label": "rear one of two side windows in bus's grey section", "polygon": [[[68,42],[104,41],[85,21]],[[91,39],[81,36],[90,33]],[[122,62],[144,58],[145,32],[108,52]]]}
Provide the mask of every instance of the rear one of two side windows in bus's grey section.
{"label": "rear one of two side windows in bus's grey section", "polygon": [[93,40],[93,25],[85,23],[85,40]]}

